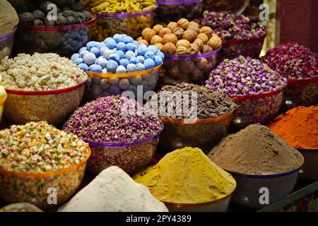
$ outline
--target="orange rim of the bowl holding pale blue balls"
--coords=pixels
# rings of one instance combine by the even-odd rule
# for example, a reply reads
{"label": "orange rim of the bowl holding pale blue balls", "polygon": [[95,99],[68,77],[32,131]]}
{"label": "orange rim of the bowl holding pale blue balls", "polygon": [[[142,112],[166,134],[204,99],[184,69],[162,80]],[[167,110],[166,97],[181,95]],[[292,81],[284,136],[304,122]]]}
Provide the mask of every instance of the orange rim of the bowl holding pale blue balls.
{"label": "orange rim of the bowl holding pale blue balls", "polygon": [[93,78],[131,78],[135,76],[146,76],[150,73],[155,73],[159,71],[160,67],[163,64],[160,64],[153,69],[148,69],[144,71],[134,71],[134,72],[125,72],[125,73],[100,73],[100,72],[93,72],[93,71],[85,71],[88,76]]}

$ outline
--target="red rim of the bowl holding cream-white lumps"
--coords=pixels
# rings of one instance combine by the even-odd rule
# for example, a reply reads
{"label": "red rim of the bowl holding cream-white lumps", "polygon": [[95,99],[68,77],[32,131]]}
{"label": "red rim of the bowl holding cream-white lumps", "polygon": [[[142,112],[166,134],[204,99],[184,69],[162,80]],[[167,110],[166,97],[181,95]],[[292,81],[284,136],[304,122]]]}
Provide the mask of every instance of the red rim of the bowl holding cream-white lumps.
{"label": "red rim of the bowl holding cream-white lumps", "polygon": [[[86,79],[87,81],[87,79]],[[6,93],[9,94],[14,94],[14,95],[29,95],[29,96],[37,96],[37,95],[57,95],[57,94],[61,94],[61,93],[68,93],[71,92],[73,90],[77,90],[78,88],[81,88],[82,86],[84,86],[86,84],[86,81],[83,81],[82,83],[79,83],[77,85],[73,85],[71,87],[68,88],[62,88],[62,89],[58,89],[58,90],[44,90],[44,91],[23,91],[23,90],[10,90],[10,89],[6,89]]]}

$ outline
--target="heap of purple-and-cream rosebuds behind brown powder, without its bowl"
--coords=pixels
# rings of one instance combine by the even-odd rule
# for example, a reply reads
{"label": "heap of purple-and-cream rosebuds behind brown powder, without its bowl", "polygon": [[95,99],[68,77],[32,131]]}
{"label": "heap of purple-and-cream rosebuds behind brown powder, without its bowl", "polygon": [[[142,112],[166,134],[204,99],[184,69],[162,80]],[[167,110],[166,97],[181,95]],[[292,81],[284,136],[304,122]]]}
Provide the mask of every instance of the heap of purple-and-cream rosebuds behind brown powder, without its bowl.
{"label": "heap of purple-and-cream rosebuds behind brown powder, without its bowl", "polygon": [[227,95],[254,95],[280,90],[287,85],[276,71],[251,57],[225,59],[211,71],[206,87]]}

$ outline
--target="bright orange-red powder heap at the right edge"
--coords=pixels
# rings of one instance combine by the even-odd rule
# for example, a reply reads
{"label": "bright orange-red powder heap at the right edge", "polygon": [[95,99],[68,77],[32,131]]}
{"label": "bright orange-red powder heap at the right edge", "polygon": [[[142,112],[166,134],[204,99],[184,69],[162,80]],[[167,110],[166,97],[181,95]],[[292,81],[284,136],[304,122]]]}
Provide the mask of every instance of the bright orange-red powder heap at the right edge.
{"label": "bright orange-red powder heap at the right edge", "polygon": [[269,129],[294,148],[318,149],[318,108],[290,109],[274,119]]}

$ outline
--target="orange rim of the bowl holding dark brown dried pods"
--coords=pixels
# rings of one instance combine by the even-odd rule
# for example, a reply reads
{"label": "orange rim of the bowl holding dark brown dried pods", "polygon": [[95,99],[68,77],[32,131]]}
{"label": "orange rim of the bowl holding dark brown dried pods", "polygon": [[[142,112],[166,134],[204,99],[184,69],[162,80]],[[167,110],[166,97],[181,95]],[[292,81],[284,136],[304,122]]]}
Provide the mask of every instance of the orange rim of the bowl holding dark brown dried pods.
{"label": "orange rim of the bowl holding dark brown dried pods", "polygon": [[222,121],[228,117],[232,117],[232,114],[235,110],[232,110],[226,114],[220,115],[218,117],[208,118],[208,119],[168,119],[167,117],[160,117],[160,120],[163,121],[163,124],[204,124],[215,121]]}

